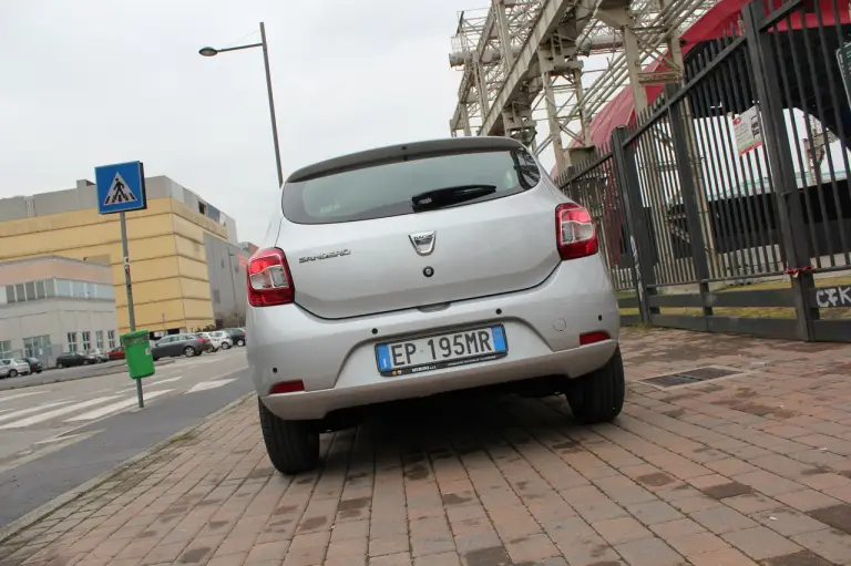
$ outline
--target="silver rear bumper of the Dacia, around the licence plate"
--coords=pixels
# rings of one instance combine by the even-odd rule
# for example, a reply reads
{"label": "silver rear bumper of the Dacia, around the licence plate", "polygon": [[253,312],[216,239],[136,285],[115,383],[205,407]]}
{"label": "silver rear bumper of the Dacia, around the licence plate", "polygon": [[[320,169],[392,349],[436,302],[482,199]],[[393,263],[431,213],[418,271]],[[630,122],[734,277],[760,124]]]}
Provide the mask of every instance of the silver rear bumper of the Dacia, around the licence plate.
{"label": "silver rear bumper of the Dacia, around the licence plate", "polygon": [[[499,313],[498,313],[499,312]],[[506,357],[420,374],[381,377],[378,343],[501,323]],[[561,264],[525,291],[345,320],[320,319],[296,305],[248,309],[248,364],[257,394],[281,419],[321,419],[329,412],[444,391],[542,375],[576,378],[614,353],[619,315],[598,256]],[[580,346],[580,335],[605,331],[612,340]],[[281,381],[304,392],[269,395]]]}

